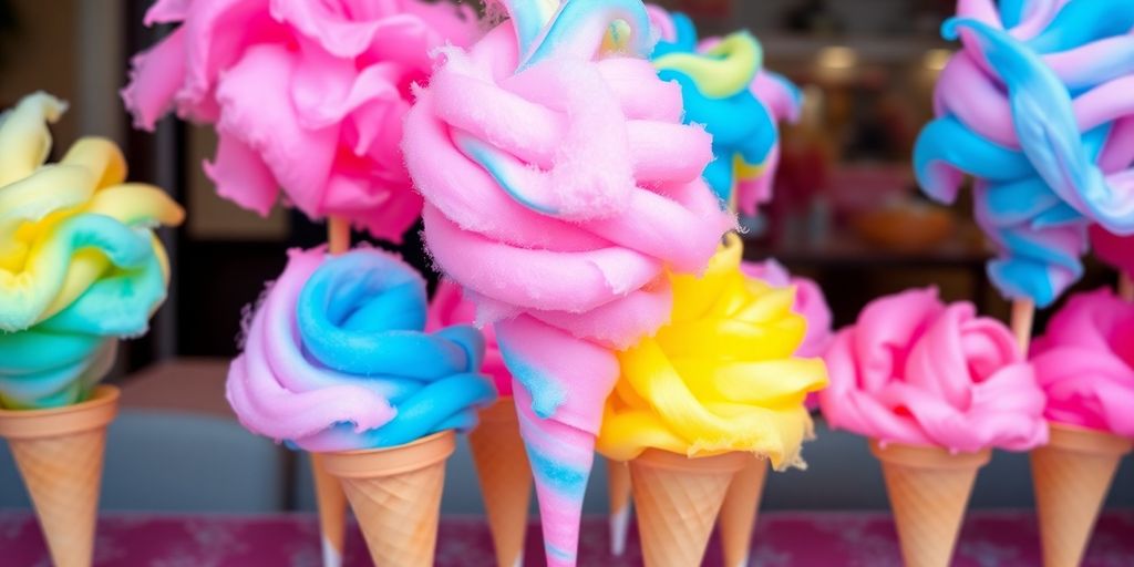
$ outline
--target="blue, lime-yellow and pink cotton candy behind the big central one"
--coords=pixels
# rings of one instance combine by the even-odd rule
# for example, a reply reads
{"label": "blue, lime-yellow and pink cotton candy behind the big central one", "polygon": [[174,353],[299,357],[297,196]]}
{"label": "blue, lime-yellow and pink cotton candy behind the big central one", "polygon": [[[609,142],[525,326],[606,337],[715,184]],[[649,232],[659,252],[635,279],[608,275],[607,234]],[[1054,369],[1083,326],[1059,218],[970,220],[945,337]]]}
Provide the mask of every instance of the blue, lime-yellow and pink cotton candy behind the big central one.
{"label": "blue, lime-yellow and pink cotton candy behind the big central one", "polygon": [[654,67],[665,81],[682,85],[685,121],[702,124],[713,136],[713,156],[704,177],[717,196],[755,214],[771,200],[779,163],[779,120],[795,120],[802,94],[786,78],[763,69],[763,49],[747,32],[697,42],[693,22],[648,7],[660,36]]}

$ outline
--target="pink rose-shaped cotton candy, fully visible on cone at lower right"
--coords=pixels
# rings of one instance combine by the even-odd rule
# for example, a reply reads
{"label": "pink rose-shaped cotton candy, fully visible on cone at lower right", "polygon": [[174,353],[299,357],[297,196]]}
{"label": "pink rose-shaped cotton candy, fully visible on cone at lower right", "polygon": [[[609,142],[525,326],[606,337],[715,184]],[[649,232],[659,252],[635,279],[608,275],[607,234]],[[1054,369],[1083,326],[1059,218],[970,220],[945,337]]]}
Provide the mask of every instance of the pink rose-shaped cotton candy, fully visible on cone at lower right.
{"label": "pink rose-shaped cotton candy, fully visible on cone at lower right", "polygon": [[1047,442],[1043,391],[1012,332],[936,289],[872,302],[824,358],[820,407],[835,429],[965,452]]}

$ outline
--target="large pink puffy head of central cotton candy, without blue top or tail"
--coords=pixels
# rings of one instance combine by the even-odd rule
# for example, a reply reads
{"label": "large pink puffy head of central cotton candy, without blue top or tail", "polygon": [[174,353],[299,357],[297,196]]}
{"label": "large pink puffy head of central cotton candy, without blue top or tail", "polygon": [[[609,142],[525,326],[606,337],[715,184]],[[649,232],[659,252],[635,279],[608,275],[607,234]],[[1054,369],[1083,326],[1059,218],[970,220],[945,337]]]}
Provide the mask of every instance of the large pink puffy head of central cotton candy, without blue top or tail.
{"label": "large pink puffy head of central cotton candy, without blue top or tail", "polygon": [[[426,238],[440,266],[477,296],[559,313],[540,319],[560,321],[633,302],[640,290],[665,285],[659,276],[666,266],[702,269],[730,221],[699,177],[711,159],[709,137],[680,125],[677,85],[657,79],[649,61],[631,58],[590,66],[549,61],[493,76],[515,65],[511,37],[506,23],[471,53],[448,52],[407,118],[406,159],[430,203]],[[500,65],[500,58],[511,65]],[[633,91],[612,86],[606,77],[616,70],[643,82]],[[595,91],[564,94],[579,84]],[[557,110],[562,104],[568,108]],[[603,107],[607,118],[570,133],[569,118],[578,116],[570,112],[573,105]],[[492,154],[494,171],[468,156],[485,142],[506,152],[498,161]],[[581,152],[602,160],[581,161]],[[608,167],[612,156],[624,163]],[[541,213],[502,191],[500,176],[538,187],[533,191],[544,184],[566,183],[564,191],[609,184],[603,193],[615,196],[576,194],[564,201],[568,197],[551,191],[547,198],[559,201],[540,206],[559,213]],[[550,179],[556,176],[565,177]],[[651,330],[609,336],[601,329],[584,331],[582,321],[567,327],[581,338],[599,335],[623,346]]]}

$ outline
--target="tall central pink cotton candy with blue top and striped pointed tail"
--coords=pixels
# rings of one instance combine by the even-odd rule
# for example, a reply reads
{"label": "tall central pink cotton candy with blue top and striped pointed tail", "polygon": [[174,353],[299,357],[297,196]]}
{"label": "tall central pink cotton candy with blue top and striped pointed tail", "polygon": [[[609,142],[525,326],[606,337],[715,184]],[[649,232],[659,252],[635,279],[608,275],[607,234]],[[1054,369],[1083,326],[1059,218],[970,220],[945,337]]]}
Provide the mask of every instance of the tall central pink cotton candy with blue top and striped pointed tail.
{"label": "tall central pink cotton candy with blue top and striped pointed tail", "polygon": [[641,2],[502,3],[510,20],[445,53],[404,150],[433,257],[499,321],[548,560],[574,565],[612,349],[668,319],[665,270],[702,270],[730,219]]}

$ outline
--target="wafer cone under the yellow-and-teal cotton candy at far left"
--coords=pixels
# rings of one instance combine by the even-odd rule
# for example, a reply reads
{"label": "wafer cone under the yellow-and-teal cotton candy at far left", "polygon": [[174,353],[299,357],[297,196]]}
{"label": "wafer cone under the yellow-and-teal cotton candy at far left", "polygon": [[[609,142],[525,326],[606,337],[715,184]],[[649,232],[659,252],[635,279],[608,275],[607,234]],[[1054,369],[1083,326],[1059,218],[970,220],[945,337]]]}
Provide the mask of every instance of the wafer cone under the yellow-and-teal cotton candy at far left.
{"label": "wafer cone under the yellow-and-teal cotton candy at far left", "polygon": [[90,566],[99,514],[107,425],[118,414],[118,388],[99,386],[87,401],[57,409],[0,411],[57,567]]}

